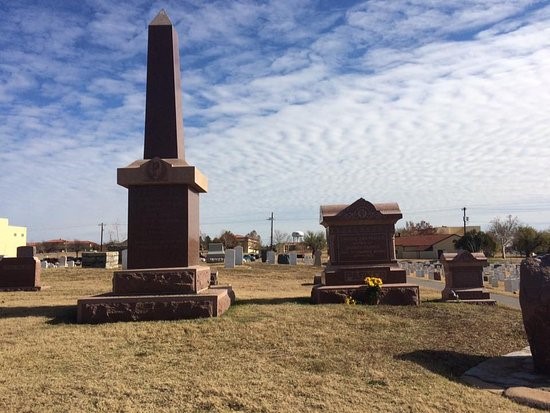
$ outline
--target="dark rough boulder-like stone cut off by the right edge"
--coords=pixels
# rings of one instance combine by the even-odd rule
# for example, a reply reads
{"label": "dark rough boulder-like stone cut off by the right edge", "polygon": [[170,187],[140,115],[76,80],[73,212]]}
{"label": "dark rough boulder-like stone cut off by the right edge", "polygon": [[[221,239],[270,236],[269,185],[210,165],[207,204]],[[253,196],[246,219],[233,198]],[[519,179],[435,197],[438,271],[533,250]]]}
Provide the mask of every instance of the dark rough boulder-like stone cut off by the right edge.
{"label": "dark rough boulder-like stone cut off by the right edge", "polygon": [[537,373],[550,374],[550,254],[522,261],[519,289],[533,366]]}

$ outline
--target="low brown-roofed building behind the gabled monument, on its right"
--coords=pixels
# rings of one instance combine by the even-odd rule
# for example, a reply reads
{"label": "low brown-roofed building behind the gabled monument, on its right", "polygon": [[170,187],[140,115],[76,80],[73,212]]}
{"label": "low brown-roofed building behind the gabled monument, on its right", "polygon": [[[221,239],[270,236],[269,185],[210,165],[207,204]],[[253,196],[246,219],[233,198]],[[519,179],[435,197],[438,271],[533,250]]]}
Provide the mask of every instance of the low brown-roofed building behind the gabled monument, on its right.
{"label": "low brown-roofed building behind the gabled monument, on its right", "polygon": [[453,241],[458,239],[457,234],[395,237],[395,255],[398,259],[436,260],[444,252],[456,252]]}

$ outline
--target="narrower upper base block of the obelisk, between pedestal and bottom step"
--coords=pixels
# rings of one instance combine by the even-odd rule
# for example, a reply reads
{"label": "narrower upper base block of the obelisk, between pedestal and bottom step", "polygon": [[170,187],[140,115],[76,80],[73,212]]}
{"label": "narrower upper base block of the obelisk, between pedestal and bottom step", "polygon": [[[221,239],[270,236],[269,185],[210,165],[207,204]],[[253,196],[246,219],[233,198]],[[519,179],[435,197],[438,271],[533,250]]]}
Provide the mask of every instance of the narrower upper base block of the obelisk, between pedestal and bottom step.
{"label": "narrower upper base block of the obelisk, between pedestal and bottom step", "polygon": [[192,294],[208,288],[210,267],[152,268],[115,271],[113,294]]}

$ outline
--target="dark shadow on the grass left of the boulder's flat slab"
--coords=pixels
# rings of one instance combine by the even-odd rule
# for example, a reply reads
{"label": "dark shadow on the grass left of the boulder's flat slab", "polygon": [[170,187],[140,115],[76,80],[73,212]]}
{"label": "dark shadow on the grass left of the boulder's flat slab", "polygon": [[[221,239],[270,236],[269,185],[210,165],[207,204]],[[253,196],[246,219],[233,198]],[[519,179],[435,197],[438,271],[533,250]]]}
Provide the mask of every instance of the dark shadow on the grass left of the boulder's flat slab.
{"label": "dark shadow on the grass left of the boulder's flat slab", "polygon": [[398,354],[395,358],[412,361],[433,373],[450,379],[458,379],[467,370],[477,366],[489,357],[447,350],[416,350],[410,353]]}

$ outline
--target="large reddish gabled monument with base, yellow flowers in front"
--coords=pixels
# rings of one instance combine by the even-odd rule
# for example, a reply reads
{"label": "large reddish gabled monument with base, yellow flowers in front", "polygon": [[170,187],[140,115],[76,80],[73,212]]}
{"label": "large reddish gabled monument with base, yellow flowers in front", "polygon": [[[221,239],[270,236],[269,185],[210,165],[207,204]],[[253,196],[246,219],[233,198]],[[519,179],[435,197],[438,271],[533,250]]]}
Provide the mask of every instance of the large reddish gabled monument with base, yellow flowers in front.
{"label": "large reddish gabled monument with base, yellow flowers in front", "polygon": [[312,290],[315,303],[341,300],[342,294],[365,302],[364,280],[377,277],[383,282],[380,303],[419,304],[418,285],[407,284],[395,256],[395,223],[403,216],[396,203],[360,198],[350,205],[323,205],[320,215],[327,228],[329,260],[322,285]]}

